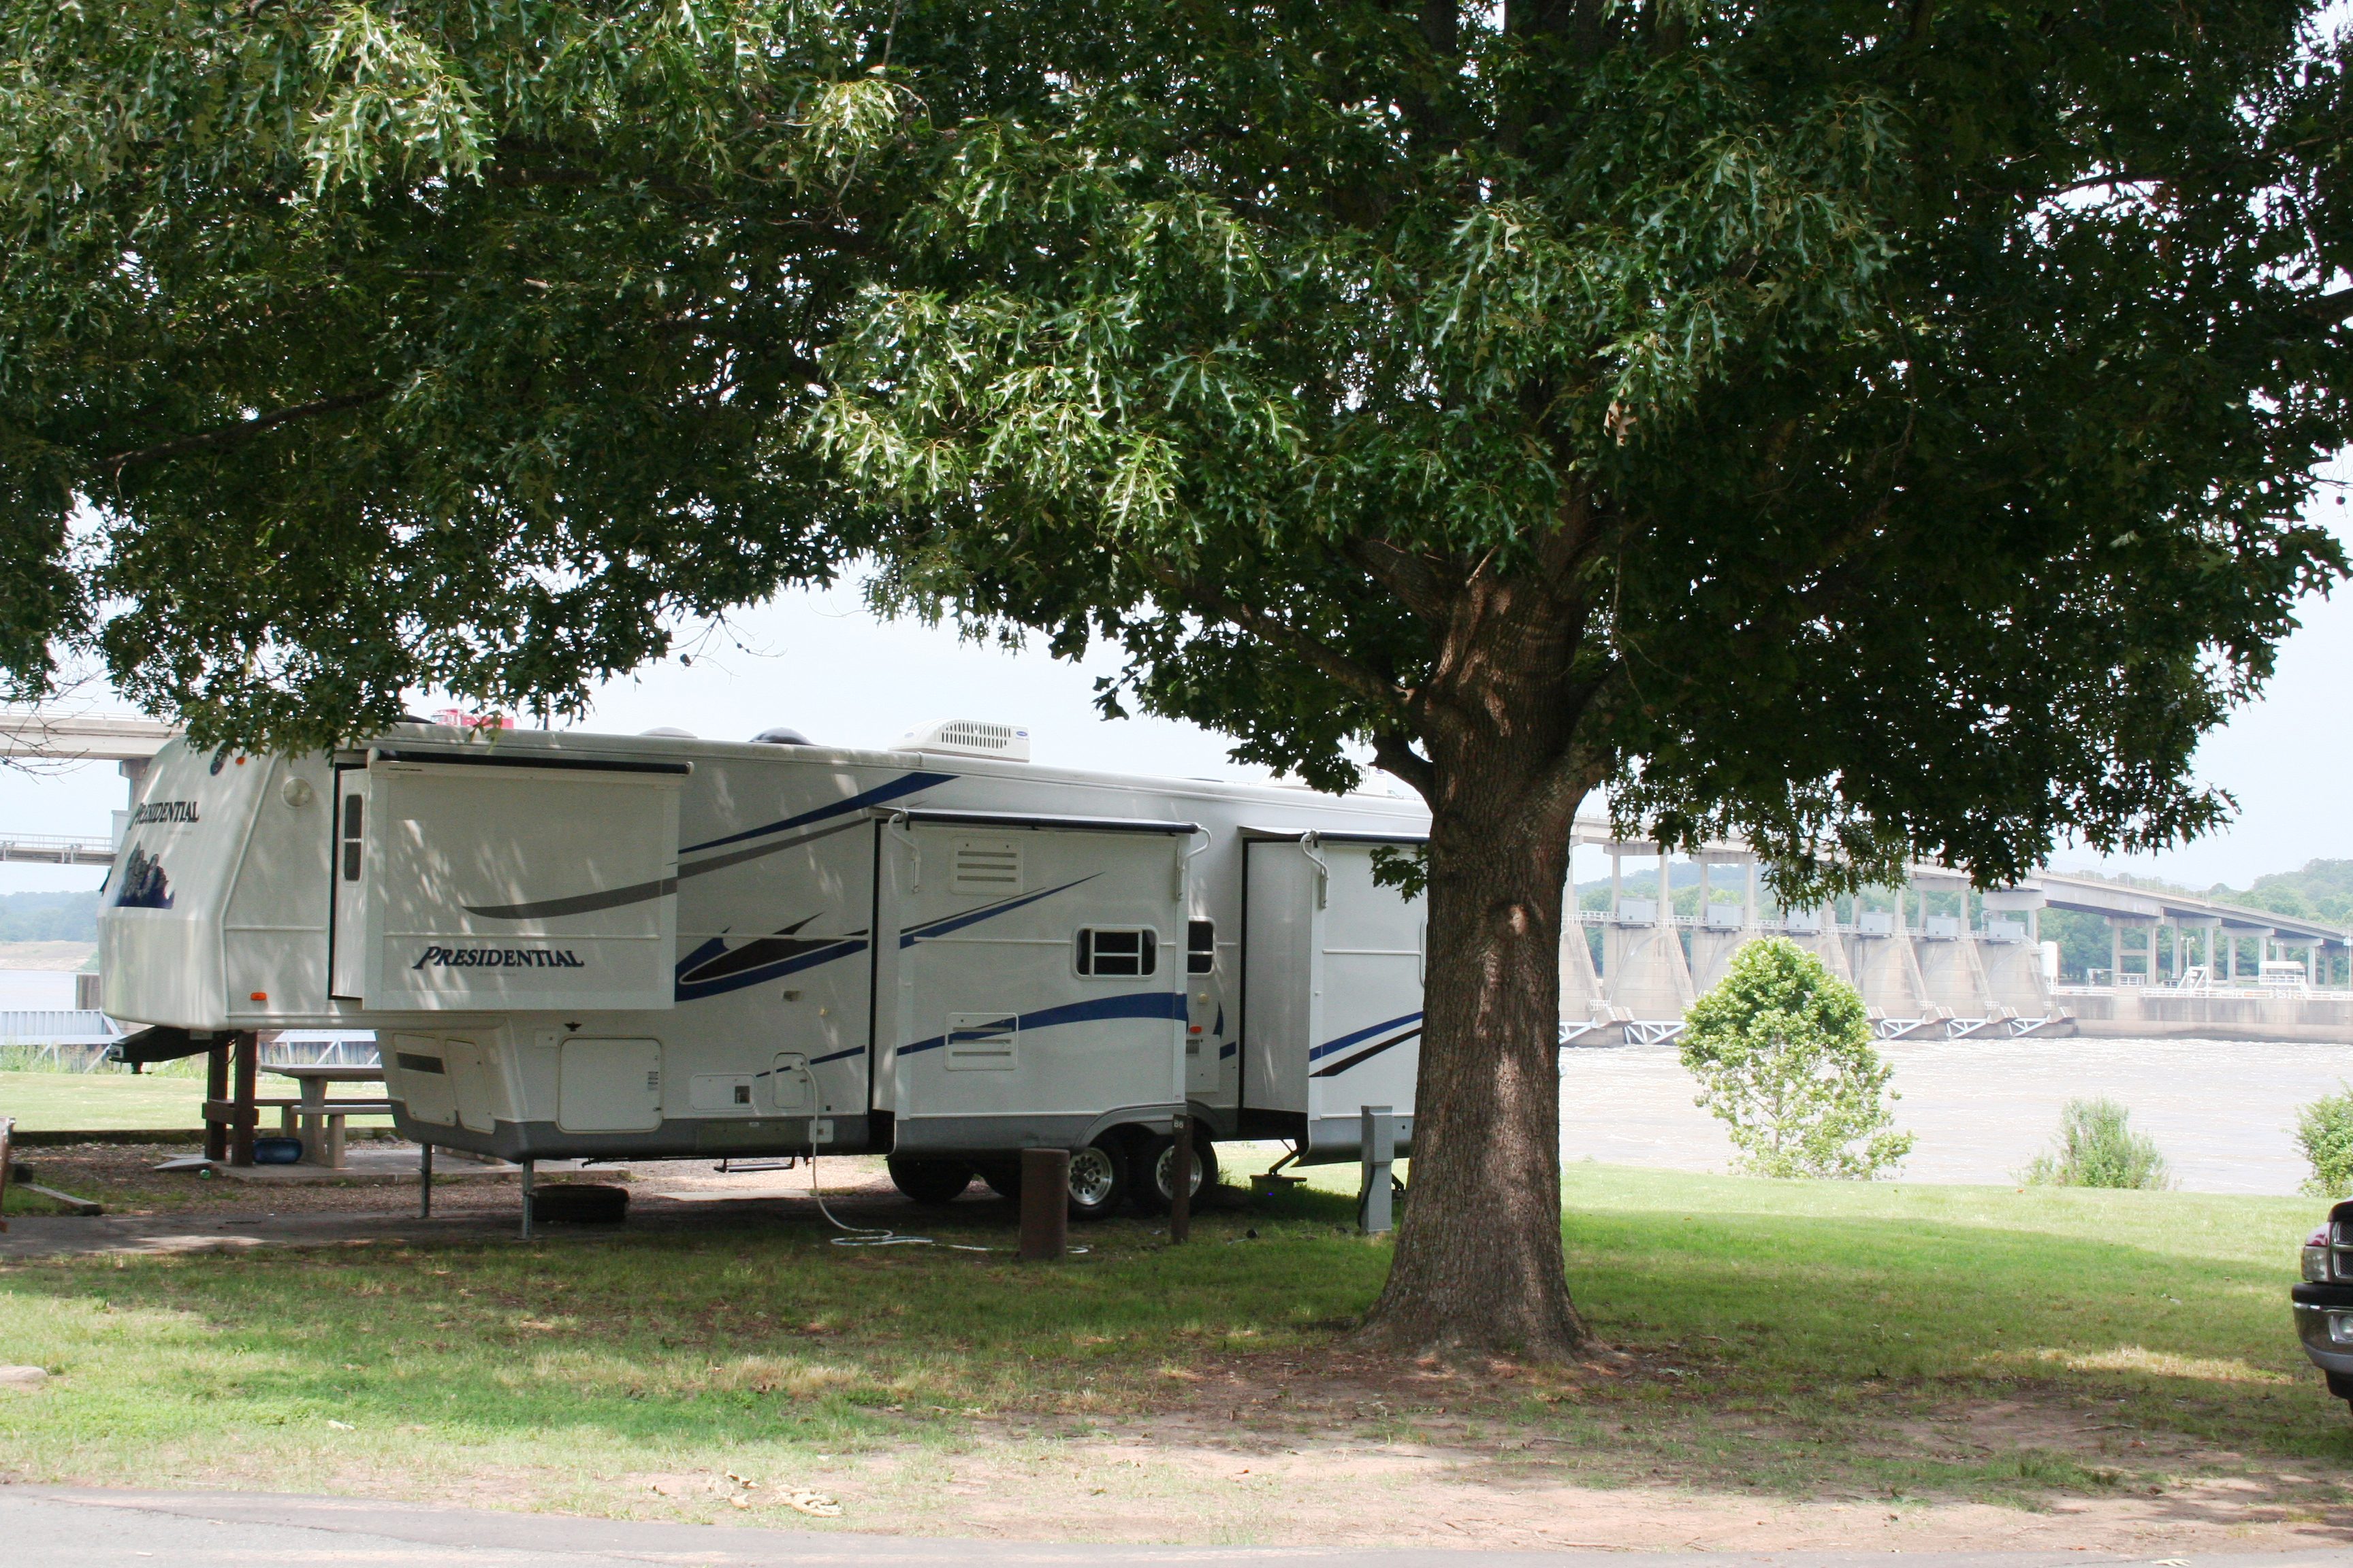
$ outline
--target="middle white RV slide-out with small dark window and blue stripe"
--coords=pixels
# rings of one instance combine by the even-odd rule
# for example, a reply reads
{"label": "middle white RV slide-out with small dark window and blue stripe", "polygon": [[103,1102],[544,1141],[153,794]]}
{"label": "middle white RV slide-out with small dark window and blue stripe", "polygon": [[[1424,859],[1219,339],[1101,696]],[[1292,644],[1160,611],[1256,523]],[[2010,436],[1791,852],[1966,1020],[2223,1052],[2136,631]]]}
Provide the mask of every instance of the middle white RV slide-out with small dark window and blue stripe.
{"label": "middle white RV slide-out with small dark window and blue stripe", "polygon": [[899,1147],[1075,1147],[1106,1117],[1169,1117],[1191,823],[911,818],[882,853]]}

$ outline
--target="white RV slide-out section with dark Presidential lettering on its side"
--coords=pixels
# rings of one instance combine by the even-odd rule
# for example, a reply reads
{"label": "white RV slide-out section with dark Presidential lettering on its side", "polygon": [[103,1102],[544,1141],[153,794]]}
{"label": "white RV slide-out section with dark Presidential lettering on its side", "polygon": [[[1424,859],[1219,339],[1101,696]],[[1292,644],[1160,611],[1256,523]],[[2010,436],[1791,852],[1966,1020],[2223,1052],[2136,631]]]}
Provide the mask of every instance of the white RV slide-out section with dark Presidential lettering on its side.
{"label": "white RV slide-out section with dark Presidential lettering on its side", "polygon": [[687,771],[379,750],[362,809],[365,1004],[668,1009]]}

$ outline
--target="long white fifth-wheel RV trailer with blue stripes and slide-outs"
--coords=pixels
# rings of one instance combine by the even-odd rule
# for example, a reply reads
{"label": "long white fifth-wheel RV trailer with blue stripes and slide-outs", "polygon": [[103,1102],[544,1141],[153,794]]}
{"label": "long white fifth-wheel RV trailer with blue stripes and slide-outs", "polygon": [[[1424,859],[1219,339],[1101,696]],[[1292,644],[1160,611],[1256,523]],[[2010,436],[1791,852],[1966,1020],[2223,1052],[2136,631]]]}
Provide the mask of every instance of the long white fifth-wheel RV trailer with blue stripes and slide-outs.
{"label": "long white fifth-wheel RV trailer with blue stripes and slide-outs", "polygon": [[172,743],[104,898],[106,1011],[191,1046],[372,1027],[405,1135],[506,1159],[821,1145],[939,1197],[1066,1147],[1087,1213],[1165,1173],[1181,1103],[1306,1164],[1355,1159],[1365,1105],[1402,1145],[1424,919],[1372,858],[1419,804],[1026,750]]}

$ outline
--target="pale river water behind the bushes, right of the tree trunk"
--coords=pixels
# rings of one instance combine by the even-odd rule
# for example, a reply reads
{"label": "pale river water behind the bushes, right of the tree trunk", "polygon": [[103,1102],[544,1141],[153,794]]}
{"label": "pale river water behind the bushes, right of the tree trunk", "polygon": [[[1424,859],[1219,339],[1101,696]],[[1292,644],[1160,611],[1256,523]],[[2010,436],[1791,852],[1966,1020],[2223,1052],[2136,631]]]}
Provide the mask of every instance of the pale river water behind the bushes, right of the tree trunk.
{"label": "pale river water behind the bushes, right of the tree trunk", "polygon": [[[2353,1079],[2353,1046],[2214,1039],[1892,1041],[1901,1180],[2007,1182],[2049,1147],[2071,1098],[2108,1095],[2155,1138],[2184,1192],[2292,1194],[2308,1175],[2297,1107]],[[1560,1053],[1560,1154],[1725,1171],[1732,1143],[1692,1105],[1675,1046]]]}

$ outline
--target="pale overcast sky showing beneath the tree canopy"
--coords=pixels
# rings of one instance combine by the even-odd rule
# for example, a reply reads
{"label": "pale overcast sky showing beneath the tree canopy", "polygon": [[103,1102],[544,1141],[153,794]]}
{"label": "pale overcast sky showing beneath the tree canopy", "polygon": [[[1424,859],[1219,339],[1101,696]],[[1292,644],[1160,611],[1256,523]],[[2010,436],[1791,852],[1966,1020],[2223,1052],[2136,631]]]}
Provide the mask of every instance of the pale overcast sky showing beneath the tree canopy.
{"label": "pale overcast sky showing beneath the tree canopy", "polygon": [[[2327,512],[2341,517],[2334,503]],[[1106,722],[1094,710],[1094,677],[1115,668],[1096,656],[1066,665],[1042,649],[1016,654],[960,644],[915,623],[875,623],[856,592],[788,595],[746,611],[734,637],[706,639],[598,696],[584,729],[635,733],[675,724],[699,736],[748,741],[791,724],[833,745],[889,745],[927,719],[969,717],[1028,724],[1033,757],[1064,766],[1179,778],[1261,778],[1226,759],[1226,741],[1167,719]],[[741,644],[741,646],[739,646]],[[687,663],[692,661],[692,665]],[[2261,703],[2242,710],[2198,755],[2202,780],[2231,790],[2238,823],[2212,839],[2132,863],[2061,851],[2061,870],[2155,872],[2191,886],[2247,886],[2264,872],[2313,858],[2353,858],[2353,592],[2313,599],[2304,628],[2280,654]],[[101,703],[104,708],[104,703]],[[1374,776],[1372,788],[1391,788]],[[1402,785],[1395,785],[1405,792]],[[122,806],[115,764],[40,773],[0,769],[0,832],[101,837]],[[1598,806],[1598,802],[1595,802]],[[1588,851],[1591,858],[1593,851]],[[1591,877],[1602,860],[1579,860]],[[0,865],[0,891],[87,889],[96,867]]]}

